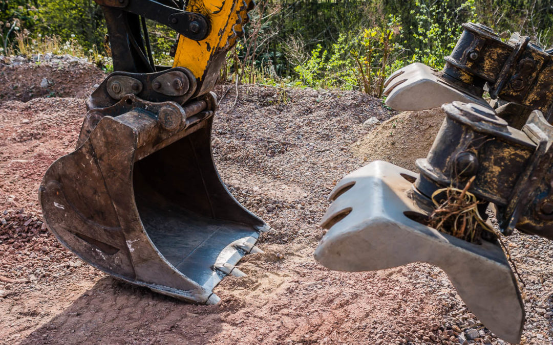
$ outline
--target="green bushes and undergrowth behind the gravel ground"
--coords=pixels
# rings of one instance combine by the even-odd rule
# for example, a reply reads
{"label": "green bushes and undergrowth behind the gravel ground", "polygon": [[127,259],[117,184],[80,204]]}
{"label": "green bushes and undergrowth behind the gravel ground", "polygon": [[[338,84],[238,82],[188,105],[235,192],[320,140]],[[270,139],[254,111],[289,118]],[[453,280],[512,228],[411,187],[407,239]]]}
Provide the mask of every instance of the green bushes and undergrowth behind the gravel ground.
{"label": "green bushes and undergrowth behind the gravel ground", "polygon": [[[408,63],[444,64],[461,24],[508,38],[521,31],[553,43],[550,0],[258,0],[247,34],[229,52],[228,82],[360,89],[379,97],[385,77]],[[175,35],[149,22],[154,59],[171,63]],[[0,0],[0,54],[45,52],[111,66],[93,0]]]}

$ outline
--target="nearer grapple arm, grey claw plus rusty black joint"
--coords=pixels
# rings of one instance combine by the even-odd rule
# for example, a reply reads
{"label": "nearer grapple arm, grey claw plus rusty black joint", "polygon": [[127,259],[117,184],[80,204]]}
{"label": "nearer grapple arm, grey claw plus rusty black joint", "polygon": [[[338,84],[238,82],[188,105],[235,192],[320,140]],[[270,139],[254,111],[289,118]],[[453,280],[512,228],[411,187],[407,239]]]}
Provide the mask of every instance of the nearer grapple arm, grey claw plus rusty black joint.
{"label": "nearer grapple arm, grey claw plus rusty black joint", "polygon": [[469,242],[432,228],[431,217],[443,205],[436,204],[440,193],[463,189],[477,200],[482,225],[489,205],[503,235],[517,227],[553,239],[553,126],[539,111],[518,130],[478,104],[442,108],[446,119],[434,145],[416,161],[420,174],[377,161],[338,183],[315,258],[346,271],[416,261],[439,266],[489,330],[517,343],[524,305],[498,233],[490,227]]}

